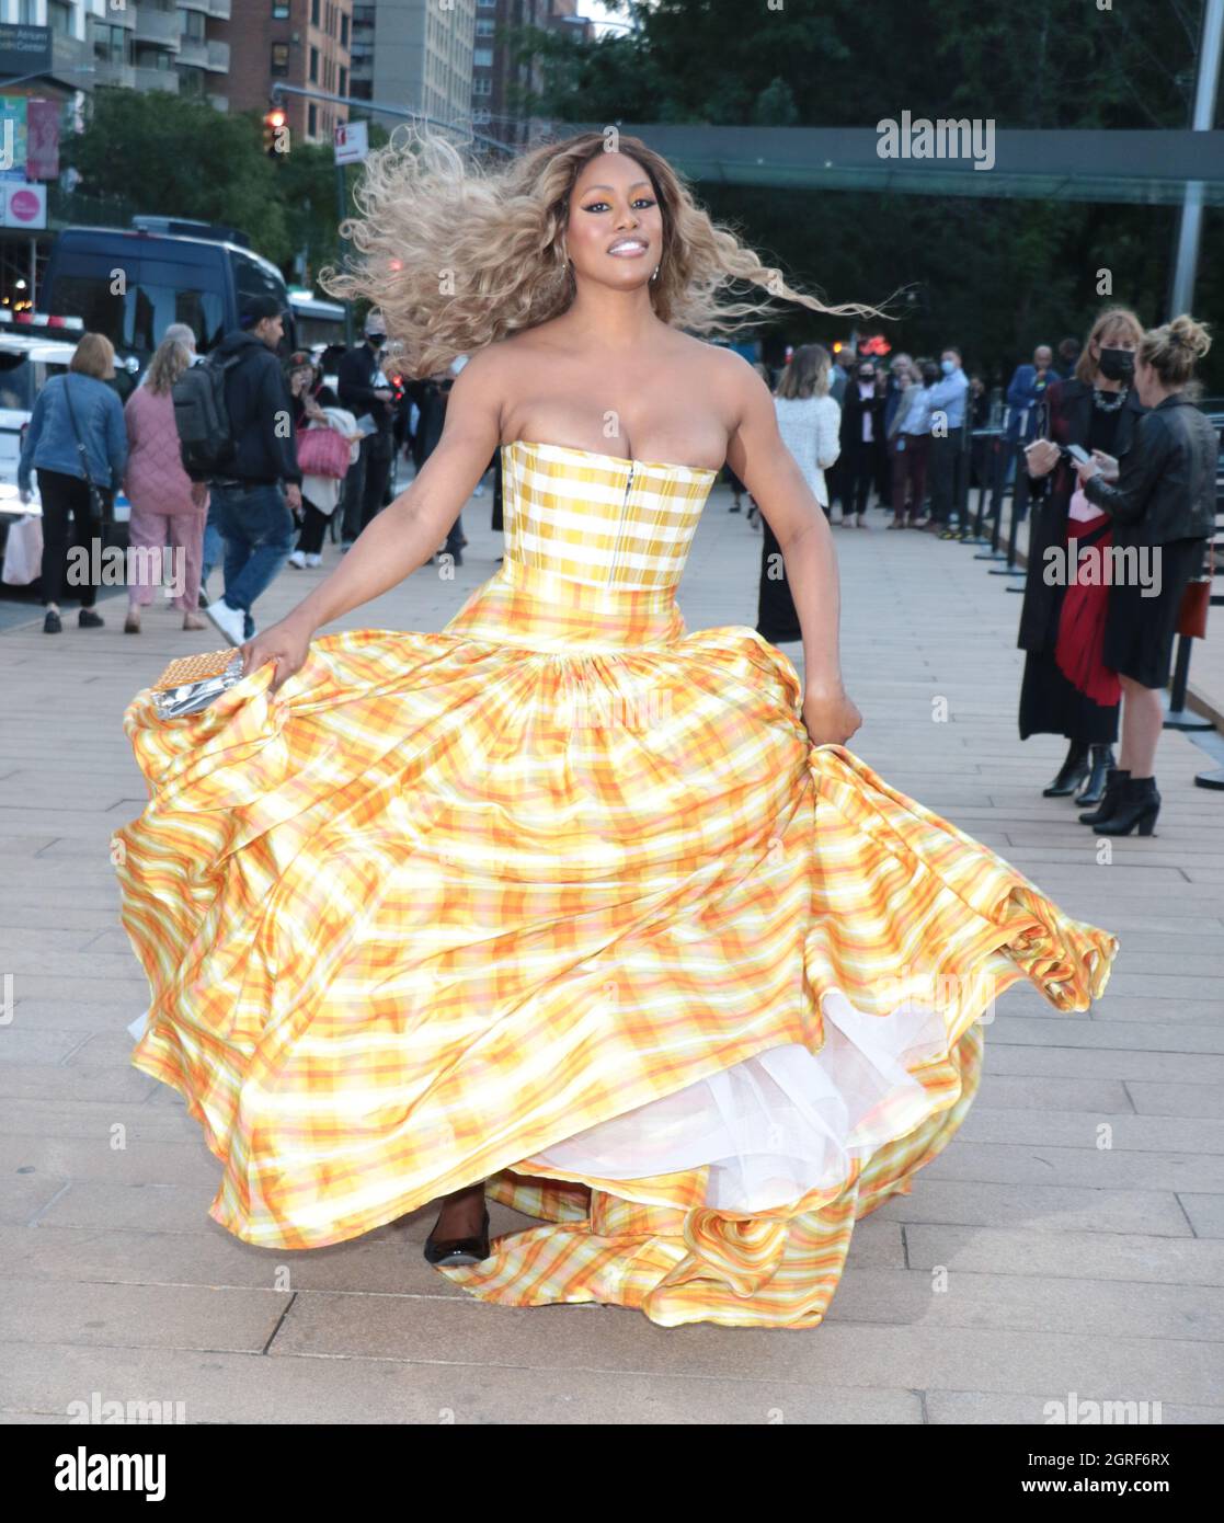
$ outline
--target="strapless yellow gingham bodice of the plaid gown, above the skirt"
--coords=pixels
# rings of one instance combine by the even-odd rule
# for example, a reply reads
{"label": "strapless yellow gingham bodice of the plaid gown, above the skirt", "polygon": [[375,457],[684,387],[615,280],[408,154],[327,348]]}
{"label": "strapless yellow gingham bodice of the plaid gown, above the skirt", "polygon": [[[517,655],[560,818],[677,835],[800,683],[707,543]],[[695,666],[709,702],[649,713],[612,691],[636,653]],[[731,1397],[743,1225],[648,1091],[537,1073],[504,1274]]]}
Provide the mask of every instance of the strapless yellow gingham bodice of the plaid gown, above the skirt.
{"label": "strapless yellow gingham bodice of the plaid gown, above the skirt", "polygon": [[719,472],[519,439],[501,446],[505,557],[448,634],[530,649],[667,644]]}

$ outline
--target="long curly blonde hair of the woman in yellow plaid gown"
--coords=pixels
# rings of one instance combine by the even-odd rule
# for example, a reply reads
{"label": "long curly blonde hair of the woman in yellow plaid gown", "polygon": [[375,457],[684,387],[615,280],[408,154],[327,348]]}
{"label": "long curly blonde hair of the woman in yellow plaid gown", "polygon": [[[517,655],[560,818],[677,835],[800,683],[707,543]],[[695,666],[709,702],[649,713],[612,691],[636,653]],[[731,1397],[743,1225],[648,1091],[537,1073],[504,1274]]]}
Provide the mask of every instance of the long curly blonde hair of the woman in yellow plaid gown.
{"label": "long curly blonde hair of the woman in yellow plaid gown", "polygon": [[341,233],[356,256],[329,267],[320,283],[341,299],[368,299],[410,373],[432,375],[515,332],[559,317],[574,300],[562,256],[569,195],[603,152],[636,160],[655,187],[664,227],[655,312],[694,334],[732,334],[776,317],[769,300],[720,300],[734,282],[761,286],[836,317],[880,317],[877,308],[825,306],[793,291],[735,233],[712,222],[684,178],[638,137],[607,128],[543,143],[505,166],[489,168],[446,139],[400,126],[365,161],[355,192],[359,216]]}

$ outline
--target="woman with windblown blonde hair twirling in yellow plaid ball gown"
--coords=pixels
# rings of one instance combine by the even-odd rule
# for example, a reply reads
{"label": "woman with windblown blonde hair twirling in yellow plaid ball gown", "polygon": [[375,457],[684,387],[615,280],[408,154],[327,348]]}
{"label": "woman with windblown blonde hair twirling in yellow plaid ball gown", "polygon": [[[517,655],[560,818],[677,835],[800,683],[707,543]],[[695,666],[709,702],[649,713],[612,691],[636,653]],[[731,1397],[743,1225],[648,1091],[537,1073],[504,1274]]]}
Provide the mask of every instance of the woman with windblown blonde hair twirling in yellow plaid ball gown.
{"label": "woman with windblown blonde hair twirling in yellow plaid ball gown", "polygon": [[[332,289],[417,373],[473,358],[247,676],[126,711],[132,1062],[186,1097],[247,1243],[441,1199],[431,1241],[467,1250],[438,1269],[484,1301],[811,1327],[854,1221],[964,1118],[993,999],[1084,1010],[1116,940],[845,746],[825,516],[764,384],[694,334],[763,311],[719,305],[732,280],[860,309],[787,288],[638,140],[499,174],[397,143],[362,212]],[[429,559],[498,446],[505,557],[449,624],[315,637]],[[804,681],[676,605],[723,460],[783,545]],[[489,1243],[487,1199],[539,1224]]]}

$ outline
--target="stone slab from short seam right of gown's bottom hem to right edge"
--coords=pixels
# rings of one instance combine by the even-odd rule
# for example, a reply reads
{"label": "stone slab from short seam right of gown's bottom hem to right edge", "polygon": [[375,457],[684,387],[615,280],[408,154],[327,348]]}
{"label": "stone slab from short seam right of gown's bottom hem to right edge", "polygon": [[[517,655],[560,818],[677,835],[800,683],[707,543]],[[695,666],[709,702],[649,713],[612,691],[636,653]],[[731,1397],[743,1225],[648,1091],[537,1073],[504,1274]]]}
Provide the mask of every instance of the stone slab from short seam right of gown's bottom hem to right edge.
{"label": "stone slab from short seam right of gown's bottom hem to right edge", "polygon": [[[974,1275],[1125,1279],[1151,1285],[1224,1285],[1224,1243],[1143,1232],[1032,1232],[1008,1228],[906,1226],[907,1264]],[[1213,1304],[1203,1298],[1203,1305]]]}

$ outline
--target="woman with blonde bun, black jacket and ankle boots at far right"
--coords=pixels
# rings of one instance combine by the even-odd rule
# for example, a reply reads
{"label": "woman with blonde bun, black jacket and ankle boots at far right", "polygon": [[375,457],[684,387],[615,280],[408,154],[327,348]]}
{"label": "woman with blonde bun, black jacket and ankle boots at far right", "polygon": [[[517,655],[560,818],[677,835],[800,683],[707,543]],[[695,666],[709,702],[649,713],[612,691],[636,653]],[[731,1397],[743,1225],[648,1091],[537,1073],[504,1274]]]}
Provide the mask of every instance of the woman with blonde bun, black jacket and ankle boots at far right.
{"label": "woman with blonde bun, black jacket and ankle boots at far right", "polygon": [[1136,825],[1149,836],[1160,813],[1160,688],[1186,585],[1215,533],[1219,434],[1187,394],[1210,346],[1206,327],[1186,314],[1145,334],[1134,381],[1151,411],[1117,471],[1096,460],[1076,466],[1084,495],[1108,513],[1116,547],[1130,557],[1108,588],[1104,659],[1122,682],[1122,755],[1101,810],[1085,821],[1102,836],[1127,836]]}

